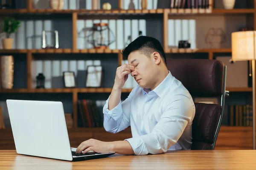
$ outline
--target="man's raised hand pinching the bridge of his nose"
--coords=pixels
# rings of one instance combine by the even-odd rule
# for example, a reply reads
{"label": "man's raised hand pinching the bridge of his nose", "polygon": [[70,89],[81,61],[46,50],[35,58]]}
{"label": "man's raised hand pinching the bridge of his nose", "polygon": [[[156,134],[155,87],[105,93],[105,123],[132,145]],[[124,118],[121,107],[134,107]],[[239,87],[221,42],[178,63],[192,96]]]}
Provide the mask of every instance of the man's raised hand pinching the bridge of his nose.
{"label": "man's raised hand pinching the bridge of his nose", "polygon": [[114,86],[117,88],[122,88],[128,79],[128,74],[134,71],[135,67],[133,65],[124,64],[116,69],[116,78]]}

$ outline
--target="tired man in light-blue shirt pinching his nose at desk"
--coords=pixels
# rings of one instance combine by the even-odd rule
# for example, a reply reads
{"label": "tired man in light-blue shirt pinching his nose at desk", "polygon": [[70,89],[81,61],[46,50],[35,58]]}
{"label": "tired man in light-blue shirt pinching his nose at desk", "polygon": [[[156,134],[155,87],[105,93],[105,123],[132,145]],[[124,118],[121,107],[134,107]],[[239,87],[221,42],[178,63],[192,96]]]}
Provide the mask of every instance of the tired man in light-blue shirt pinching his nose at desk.
{"label": "tired man in light-blue shirt pinching his nose at desk", "polygon": [[[195,105],[187,89],[168,71],[160,42],[140,36],[122,54],[128,57],[128,64],[116,70],[111,95],[103,108],[104,127],[118,133],[131,126],[133,137],[116,142],[90,139],[82,142],[76,152],[146,155],[191,149]],[[138,86],[121,102],[128,74]]]}

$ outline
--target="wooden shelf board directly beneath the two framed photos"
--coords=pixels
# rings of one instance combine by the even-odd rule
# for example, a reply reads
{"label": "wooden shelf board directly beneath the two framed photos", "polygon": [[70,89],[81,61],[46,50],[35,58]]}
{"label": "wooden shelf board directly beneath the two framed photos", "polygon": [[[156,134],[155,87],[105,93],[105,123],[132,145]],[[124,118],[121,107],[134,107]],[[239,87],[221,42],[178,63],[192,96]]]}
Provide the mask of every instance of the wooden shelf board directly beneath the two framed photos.
{"label": "wooden shelf board directly beneath the two framed photos", "polygon": [[[123,93],[129,93],[132,89],[122,89]],[[46,88],[46,89],[1,89],[0,93],[111,93],[112,88]]]}

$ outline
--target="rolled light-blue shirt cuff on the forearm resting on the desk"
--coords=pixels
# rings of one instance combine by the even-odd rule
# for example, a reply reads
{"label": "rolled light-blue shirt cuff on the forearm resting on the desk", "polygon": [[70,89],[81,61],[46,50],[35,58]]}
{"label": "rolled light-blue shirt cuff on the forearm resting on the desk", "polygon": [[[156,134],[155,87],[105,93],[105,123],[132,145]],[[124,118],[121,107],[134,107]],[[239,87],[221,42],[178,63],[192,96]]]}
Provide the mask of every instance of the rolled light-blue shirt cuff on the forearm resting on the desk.
{"label": "rolled light-blue shirt cuff on the forearm resting on the desk", "polygon": [[141,137],[136,138],[129,138],[125,139],[125,141],[128,141],[134,150],[135,155],[147,155],[148,150],[146,148],[146,145]]}

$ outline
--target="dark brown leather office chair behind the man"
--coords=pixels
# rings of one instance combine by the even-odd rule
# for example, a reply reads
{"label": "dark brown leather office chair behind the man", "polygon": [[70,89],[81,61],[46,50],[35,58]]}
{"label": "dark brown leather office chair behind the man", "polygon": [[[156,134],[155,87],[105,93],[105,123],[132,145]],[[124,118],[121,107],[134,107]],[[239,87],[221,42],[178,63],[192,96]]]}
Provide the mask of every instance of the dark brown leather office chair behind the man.
{"label": "dark brown leather office chair behind the man", "polygon": [[192,123],[192,150],[214,150],[224,111],[226,68],[212,59],[169,59],[167,68],[180,80],[192,97],[219,97],[221,103],[195,103]]}

